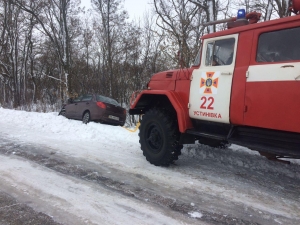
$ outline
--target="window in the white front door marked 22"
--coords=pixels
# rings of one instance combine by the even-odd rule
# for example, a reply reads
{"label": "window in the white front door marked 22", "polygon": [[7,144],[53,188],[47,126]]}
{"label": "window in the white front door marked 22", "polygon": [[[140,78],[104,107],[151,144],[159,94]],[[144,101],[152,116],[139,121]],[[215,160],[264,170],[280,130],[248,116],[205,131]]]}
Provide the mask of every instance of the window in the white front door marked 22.
{"label": "window in the white front door marked 22", "polygon": [[206,66],[231,65],[234,54],[234,38],[226,38],[207,43]]}

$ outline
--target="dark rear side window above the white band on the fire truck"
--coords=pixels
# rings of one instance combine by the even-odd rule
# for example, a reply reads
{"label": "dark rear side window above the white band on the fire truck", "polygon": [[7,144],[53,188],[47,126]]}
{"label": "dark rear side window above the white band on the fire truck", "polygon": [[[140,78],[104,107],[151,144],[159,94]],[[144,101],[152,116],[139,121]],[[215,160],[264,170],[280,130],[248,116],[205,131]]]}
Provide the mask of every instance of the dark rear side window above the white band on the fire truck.
{"label": "dark rear side window above the white band on the fire truck", "polygon": [[256,61],[300,60],[299,40],[299,27],[263,33],[258,39]]}

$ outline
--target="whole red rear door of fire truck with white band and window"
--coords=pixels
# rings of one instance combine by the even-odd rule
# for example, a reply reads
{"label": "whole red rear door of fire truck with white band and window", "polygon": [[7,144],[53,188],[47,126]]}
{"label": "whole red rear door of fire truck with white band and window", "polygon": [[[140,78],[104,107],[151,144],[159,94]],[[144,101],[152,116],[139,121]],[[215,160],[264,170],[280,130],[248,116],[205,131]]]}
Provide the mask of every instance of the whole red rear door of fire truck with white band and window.
{"label": "whole red rear door of fire truck with white band and window", "polygon": [[254,33],[245,96],[245,125],[300,132],[300,27]]}

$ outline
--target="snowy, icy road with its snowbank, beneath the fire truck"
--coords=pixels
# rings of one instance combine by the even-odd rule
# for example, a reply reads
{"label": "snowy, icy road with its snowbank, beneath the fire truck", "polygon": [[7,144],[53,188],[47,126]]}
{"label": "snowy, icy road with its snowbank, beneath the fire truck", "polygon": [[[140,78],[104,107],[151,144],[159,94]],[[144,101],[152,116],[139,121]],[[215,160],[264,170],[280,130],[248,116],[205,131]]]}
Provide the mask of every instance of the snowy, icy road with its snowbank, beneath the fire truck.
{"label": "snowy, icy road with its snowbank, beneath the fire truck", "polygon": [[57,113],[0,115],[0,191],[57,223],[300,224],[298,160],[195,144],[155,167],[137,132]]}

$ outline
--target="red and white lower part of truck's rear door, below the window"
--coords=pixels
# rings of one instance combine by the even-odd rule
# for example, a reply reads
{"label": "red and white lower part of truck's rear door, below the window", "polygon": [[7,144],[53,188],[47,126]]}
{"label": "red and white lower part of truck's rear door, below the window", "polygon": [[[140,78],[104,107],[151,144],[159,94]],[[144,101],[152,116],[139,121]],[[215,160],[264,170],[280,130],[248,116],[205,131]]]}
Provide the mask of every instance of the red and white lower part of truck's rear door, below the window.
{"label": "red and white lower part of truck's rear door, below the window", "polygon": [[245,125],[300,132],[300,62],[250,66]]}

